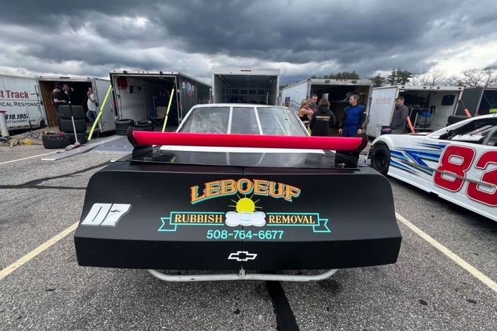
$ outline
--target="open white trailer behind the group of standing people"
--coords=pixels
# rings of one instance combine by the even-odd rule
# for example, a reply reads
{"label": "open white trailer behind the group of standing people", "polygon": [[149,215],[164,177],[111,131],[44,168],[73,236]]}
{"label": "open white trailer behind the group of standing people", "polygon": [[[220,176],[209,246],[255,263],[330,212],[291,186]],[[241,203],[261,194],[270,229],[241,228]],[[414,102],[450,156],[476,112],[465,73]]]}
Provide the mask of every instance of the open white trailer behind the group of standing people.
{"label": "open white trailer behind the group of standing people", "polygon": [[359,103],[368,106],[373,83],[369,79],[306,79],[282,88],[283,106],[298,110],[303,99],[312,94],[330,101],[330,109],[335,114],[336,123],[342,121],[344,108],[349,106],[349,96],[357,94]]}

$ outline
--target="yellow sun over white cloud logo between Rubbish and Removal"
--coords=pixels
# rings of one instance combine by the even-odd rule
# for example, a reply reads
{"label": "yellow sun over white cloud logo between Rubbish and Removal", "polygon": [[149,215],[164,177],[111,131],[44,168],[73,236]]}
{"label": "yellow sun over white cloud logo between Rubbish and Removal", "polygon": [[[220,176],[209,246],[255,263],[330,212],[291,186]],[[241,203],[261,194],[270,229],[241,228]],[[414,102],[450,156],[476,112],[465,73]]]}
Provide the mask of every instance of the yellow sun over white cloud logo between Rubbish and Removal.
{"label": "yellow sun over white cloud logo between Rubbish and Removal", "polygon": [[253,201],[253,195],[250,198],[243,197],[240,198],[237,194],[238,201],[231,200],[236,205],[229,205],[229,207],[235,207],[236,212],[226,212],[226,225],[228,226],[264,226],[266,225],[266,214],[264,212],[255,211],[257,207]]}

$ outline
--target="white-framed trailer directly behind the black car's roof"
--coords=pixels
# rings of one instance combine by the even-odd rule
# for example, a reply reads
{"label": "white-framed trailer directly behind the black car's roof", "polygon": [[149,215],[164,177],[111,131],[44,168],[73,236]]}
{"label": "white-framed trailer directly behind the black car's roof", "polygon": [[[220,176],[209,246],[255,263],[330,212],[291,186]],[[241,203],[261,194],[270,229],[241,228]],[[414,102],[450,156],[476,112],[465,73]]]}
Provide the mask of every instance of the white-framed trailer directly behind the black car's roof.
{"label": "white-framed trailer directly behind the black car's roof", "polygon": [[213,103],[279,104],[280,69],[213,68]]}

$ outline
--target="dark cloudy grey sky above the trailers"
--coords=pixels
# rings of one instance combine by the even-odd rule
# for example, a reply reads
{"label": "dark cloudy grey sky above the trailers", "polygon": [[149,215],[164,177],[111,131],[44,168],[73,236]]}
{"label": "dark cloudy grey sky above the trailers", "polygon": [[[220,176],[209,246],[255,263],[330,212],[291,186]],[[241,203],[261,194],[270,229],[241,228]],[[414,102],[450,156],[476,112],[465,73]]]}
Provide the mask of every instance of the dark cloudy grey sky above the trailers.
{"label": "dark cloudy grey sky above the trailers", "polygon": [[497,65],[496,0],[1,0],[0,73],[280,68],[447,75]]}

